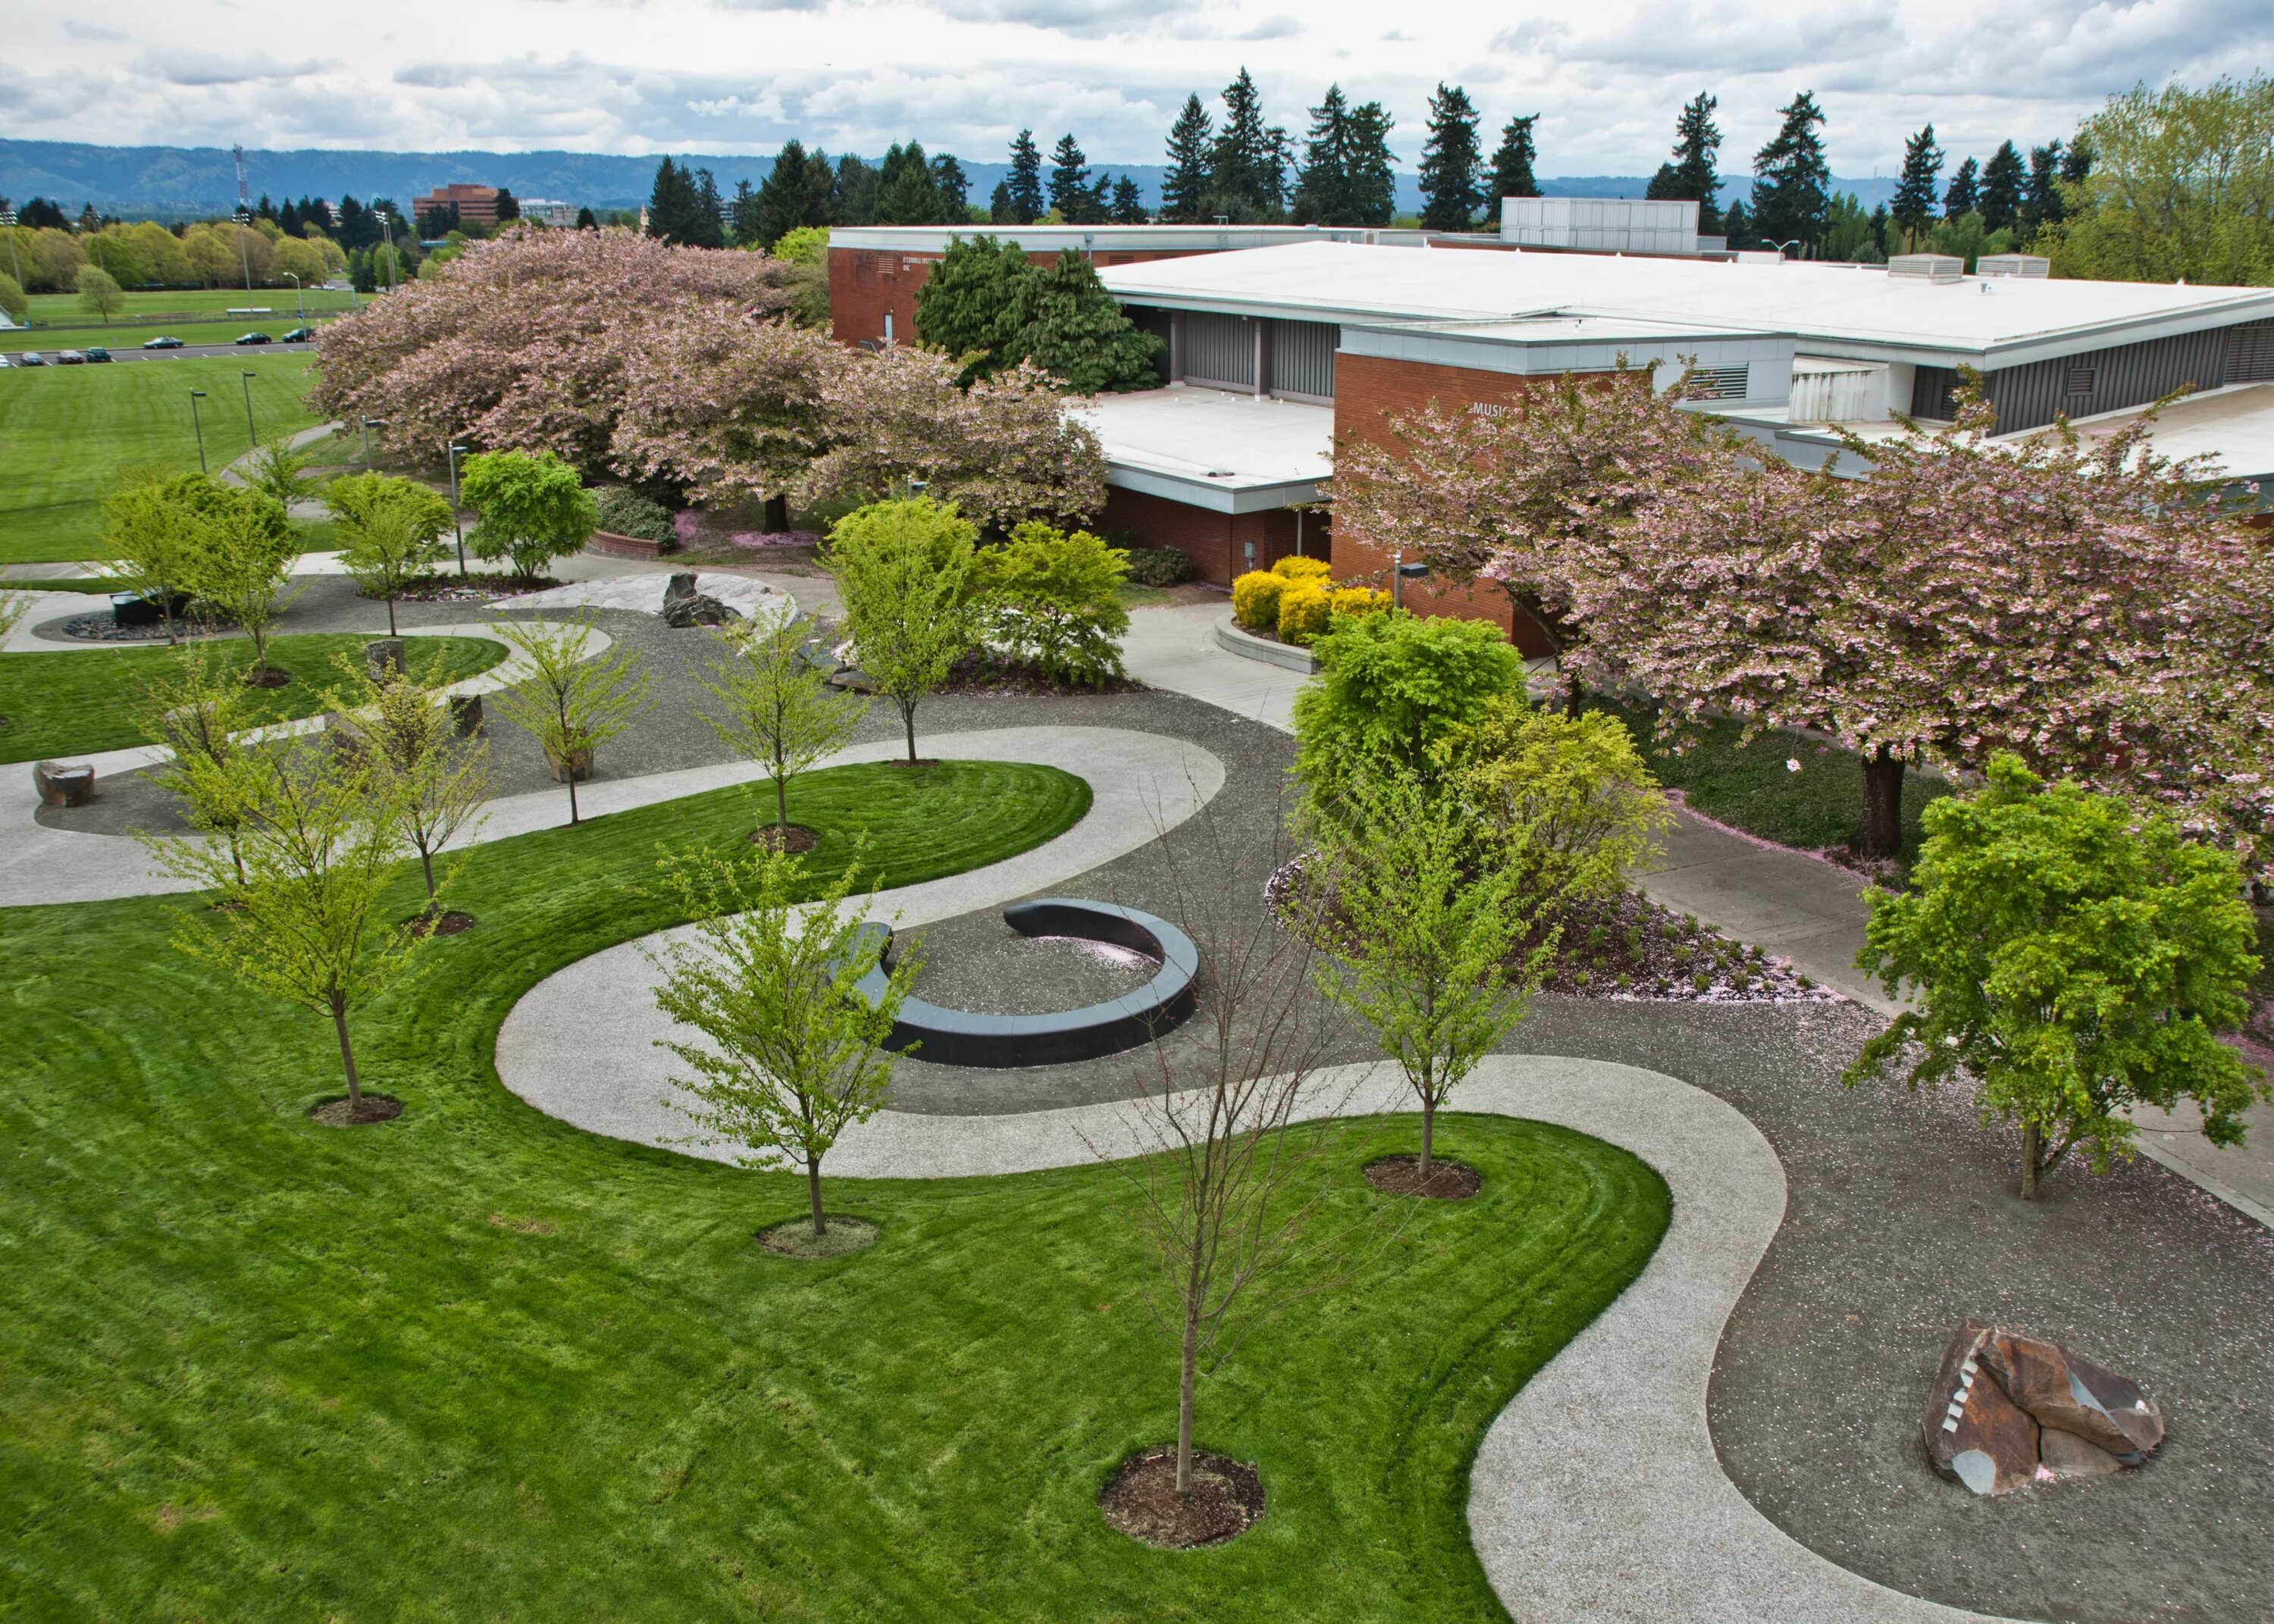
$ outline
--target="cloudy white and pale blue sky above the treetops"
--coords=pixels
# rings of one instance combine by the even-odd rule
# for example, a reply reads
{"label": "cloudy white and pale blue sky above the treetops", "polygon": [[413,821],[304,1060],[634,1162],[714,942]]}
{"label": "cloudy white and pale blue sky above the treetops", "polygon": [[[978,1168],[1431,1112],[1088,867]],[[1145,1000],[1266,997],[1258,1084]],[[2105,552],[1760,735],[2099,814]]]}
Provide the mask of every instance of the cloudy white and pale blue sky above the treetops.
{"label": "cloudy white and pale blue sky above the treetops", "polygon": [[1721,98],[1746,168],[1808,86],[1840,175],[2067,134],[2135,80],[2274,61],[2267,0],[75,0],[23,7],[0,134],[98,143],[771,152],[785,136],[998,159],[1019,125],[1157,161],[1187,91],[1246,64],[1273,121],[1339,80],[1399,121],[1437,80],[1487,123],[1544,114],[1546,175],[1646,173]]}

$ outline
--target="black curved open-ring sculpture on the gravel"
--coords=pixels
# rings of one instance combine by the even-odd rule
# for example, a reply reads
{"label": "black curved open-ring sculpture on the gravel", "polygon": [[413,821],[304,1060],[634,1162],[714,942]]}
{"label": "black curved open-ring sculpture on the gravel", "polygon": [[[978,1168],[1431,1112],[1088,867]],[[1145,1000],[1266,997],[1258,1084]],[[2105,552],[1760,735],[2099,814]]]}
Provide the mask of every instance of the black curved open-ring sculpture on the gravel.
{"label": "black curved open-ring sculpture on the gravel", "polygon": [[[1003,910],[1003,923],[1028,937],[1110,942],[1160,960],[1160,973],[1137,992],[1107,1003],[1048,1014],[980,1014],[903,999],[891,1037],[885,1039],[887,1049],[901,1053],[914,1049],[919,1060],[944,1067],[1051,1067],[1135,1049],[1192,1014],[1192,978],[1201,969],[1201,953],[1192,946],[1192,937],[1167,919],[1078,896],[1044,896],[1012,903]],[[860,992],[871,1003],[885,996],[885,953],[891,951],[891,930],[873,921],[862,926],[864,948],[878,937],[882,937],[878,962],[860,980]]]}

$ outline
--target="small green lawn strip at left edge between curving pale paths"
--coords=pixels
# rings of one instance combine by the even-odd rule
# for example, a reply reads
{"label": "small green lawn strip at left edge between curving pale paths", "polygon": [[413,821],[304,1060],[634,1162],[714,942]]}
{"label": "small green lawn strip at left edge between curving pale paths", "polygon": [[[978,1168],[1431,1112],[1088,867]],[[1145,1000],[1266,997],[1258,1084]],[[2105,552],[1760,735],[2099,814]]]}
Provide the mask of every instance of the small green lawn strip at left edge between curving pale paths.
{"label": "small green lawn strip at left edge between curving pale paths", "polygon": [[[255,723],[293,721],[323,710],[323,689],[341,682],[339,655],[359,660],[371,637],[355,632],[300,632],[268,644],[268,664],[293,673],[293,682],[248,694]],[[428,660],[441,648],[450,680],[468,678],[505,660],[505,644],[491,637],[414,637],[412,657]],[[252,644],[230,637],[202,644],[216,657],[246,669]],[[57,653],[0,655],[0,760],[36,762],[43,755],[89,755],[148,744],[141,728],[143,687],[189,657],[186,648],[70,648]]]}

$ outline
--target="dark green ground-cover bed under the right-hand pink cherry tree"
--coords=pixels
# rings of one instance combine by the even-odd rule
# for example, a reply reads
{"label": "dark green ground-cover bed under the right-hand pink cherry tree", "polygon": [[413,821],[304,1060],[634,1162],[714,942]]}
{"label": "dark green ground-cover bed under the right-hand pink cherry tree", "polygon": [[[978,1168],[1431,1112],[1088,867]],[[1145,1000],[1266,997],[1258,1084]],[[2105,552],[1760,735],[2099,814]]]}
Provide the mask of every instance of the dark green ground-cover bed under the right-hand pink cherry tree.
{"label": "dark green ground-cover bed under the right-hand pink cherry tree", "polygon": [[[1590,710],[1608,710],[1626,721],[1658,782],[1680,789],[1706,817],[1733,823],[1783,846],[1844,846],[1862,830],[1862,757],[1835,744],[1792,732],[1760,732],[1740,744],[1733,721],[1706,723],[1699,741],[1674,755],[1651,735],[1651,710],[1592,698]],[[1792,771],[1787,762],[1799,762]],[[1919,812],[1951,787],[1924,773],[1903,773],[1903,862],[1919,855]]]}

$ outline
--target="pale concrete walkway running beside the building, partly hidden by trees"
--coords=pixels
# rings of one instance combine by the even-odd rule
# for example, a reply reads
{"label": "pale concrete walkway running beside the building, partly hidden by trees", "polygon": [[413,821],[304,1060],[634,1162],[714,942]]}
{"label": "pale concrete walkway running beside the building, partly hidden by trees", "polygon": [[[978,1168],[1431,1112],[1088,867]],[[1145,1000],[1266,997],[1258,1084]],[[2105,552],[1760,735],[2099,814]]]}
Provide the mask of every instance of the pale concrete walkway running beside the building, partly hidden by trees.
{"label": "pale concrete walkway running beside the building, partly hidden by trees", "polygon": [[[1132,610],[1123,639],[1130,676],[1292,732],[1294,696],[1308,678],[1223,651],[1214,630],[1226,619],[1230,607],[1214,603]],[[1846,869],[1683,810],[1665,853],[1635,885],[1653,903],[1792,960],[1867,1010],[1897,1008],[1856,969],[1872,910],[1865,880]],[[2244,1115],[2249,1137],[2235,1149],[2210,1144],[2192,1112],[2142,1110],[2138,1121],[2142,1155],[2274,1228],[2274,1105]]]}

